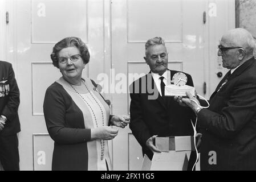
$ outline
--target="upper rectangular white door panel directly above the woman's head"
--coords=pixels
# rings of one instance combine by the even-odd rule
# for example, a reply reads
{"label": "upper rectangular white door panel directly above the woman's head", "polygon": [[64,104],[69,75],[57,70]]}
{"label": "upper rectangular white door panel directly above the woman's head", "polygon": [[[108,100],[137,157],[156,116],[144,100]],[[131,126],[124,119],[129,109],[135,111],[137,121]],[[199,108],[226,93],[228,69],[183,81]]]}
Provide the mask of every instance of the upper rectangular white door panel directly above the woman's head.
{"label": "upper rectangular white door panel directly above the woman's head", "polygon": [[31,42],[56,43],[78,36],[88,43],[87,12],[87,1],[32,0]]}

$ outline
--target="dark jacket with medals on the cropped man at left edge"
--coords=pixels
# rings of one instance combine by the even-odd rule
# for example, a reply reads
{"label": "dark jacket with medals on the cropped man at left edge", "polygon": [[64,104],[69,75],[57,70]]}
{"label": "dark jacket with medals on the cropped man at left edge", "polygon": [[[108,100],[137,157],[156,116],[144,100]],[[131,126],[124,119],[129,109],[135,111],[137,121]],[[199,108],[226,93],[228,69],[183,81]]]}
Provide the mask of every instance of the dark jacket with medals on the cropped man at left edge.
{"label": "dark jacket with medals on the cropped man at left edge", "polygon": [[21,131],[18,106],[19,88],[13,67],[6,61],[0,61],[0,115],[3,114],[7,118],[4,129],[0,131],[0,136],[14,135]]}

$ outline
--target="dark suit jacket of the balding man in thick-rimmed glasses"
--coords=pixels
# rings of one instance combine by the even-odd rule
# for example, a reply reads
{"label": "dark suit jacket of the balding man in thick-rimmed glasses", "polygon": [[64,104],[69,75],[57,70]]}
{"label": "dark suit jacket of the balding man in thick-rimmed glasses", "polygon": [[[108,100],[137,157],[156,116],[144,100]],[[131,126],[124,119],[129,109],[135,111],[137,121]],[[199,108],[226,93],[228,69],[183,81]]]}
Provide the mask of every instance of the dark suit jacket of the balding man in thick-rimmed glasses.
{"label": "dark suit jacket of the balding man in thick-rimmed glasses", "polygon": [[[202,170],[256,170],[256,61],[235,69],[198,113]],[[214,154],[216,152],[216,164]],[[210,154],[209,154],[210,152]],[[210,162],[210,164],[209,164]]]}

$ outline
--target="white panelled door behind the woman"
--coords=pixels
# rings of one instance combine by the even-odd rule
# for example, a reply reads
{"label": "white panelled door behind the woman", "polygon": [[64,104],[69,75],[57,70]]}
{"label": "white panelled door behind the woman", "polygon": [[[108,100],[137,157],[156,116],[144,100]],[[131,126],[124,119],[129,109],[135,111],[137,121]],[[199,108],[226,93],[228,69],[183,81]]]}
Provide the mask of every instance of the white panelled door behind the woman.
{"label": "white panelled door behind the woman", "polygon": [[[17,0],[14,57],[21,92],[19,152],[21,170],[50,170],[53,141],[43,117],[46,88],[61,74],[50,59],[52,47],[67,36],[78,36],[90,49],[91,59],[83,76],[104,72],[104,1]],[[89,71],[91,71],[89,73]]]}

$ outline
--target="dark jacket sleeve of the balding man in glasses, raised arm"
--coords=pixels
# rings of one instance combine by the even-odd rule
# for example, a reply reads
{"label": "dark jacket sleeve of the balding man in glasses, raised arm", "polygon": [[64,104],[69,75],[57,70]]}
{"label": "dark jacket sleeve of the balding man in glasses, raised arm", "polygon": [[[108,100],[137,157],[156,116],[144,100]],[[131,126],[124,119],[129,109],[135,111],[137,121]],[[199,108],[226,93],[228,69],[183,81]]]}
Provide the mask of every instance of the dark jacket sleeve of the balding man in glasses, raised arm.
{"label": "dark jacket sleeve of the balding man in glasses, raised arm", "polygon": [[209,109],[202,109],[198,113],[200,127],[222,138],[231,139],[251,121],[256,111],[256,80],[248,78],[246,81],[238,80],[237,83],[221,113]]}

